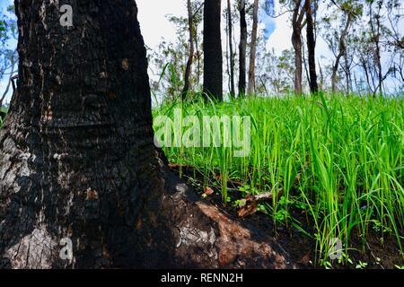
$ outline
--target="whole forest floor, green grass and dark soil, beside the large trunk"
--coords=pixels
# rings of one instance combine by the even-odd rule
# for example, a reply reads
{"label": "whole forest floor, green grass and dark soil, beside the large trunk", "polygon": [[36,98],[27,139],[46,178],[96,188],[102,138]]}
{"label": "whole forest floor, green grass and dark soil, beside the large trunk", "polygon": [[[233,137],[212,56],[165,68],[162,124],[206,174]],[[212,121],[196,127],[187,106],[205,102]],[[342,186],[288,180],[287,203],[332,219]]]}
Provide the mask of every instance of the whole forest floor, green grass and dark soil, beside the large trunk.
{"label": "whole forest floor, green grass and dark soil, beside the large trunk", "polygon": [[[214,117],[212,143],[219,131],[221,144],[193,141]],[[171,170],[206,200],[259,225],[295,262],[404,267],[402,98],[171,102],[154,109],[154,131]],[[244,139],[239,150],[225,145],[234,138]]]}

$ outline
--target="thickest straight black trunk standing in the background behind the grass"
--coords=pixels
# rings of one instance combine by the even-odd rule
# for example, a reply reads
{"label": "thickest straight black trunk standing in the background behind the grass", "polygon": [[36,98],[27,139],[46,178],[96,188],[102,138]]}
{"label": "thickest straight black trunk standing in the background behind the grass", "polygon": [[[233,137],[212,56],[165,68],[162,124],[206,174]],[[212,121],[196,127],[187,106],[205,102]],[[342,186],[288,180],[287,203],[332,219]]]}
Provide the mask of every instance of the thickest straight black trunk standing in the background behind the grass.
{"label": "thickest straight black trunk standing in the background behind the grass", "polygon": [[215,100],[223,100],[221,12],[221,0],[205,0],[204,94]]}

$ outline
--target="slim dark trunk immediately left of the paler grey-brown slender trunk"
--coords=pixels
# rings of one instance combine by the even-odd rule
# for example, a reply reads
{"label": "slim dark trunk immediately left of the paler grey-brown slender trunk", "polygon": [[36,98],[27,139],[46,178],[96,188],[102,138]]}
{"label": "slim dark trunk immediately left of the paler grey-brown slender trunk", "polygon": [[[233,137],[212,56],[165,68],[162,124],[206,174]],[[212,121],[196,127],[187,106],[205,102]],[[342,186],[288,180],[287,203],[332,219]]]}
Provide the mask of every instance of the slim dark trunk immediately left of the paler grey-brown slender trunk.
{"label": "slim dark trunk immediately left of the paler grey-brown slender trunk", "polygon": [[239,97],[244,97],[246,91],[246,55],[247,55],[247,20],[245,0],[240,0],[240,67],[239,67]]}

